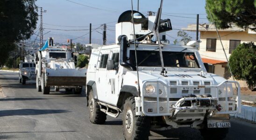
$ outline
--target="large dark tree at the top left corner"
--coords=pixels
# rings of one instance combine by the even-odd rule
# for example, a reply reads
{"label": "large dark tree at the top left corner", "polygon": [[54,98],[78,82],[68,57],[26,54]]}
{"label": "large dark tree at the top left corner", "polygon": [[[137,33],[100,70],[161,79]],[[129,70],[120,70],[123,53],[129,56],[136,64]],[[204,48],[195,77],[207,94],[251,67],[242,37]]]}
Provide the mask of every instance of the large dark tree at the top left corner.
{"label": "large dark tree at the top left corner", "polygon": [[36,28],[36,0],[0,0],[0,64],[5,63],[14,42],[28,39]]}

